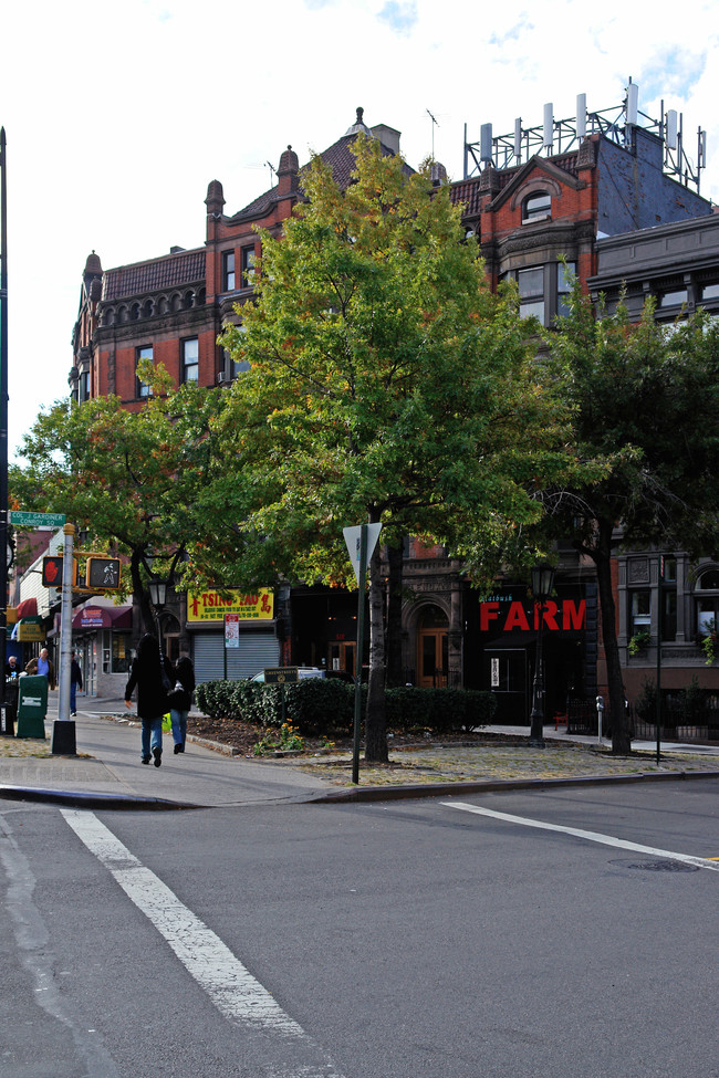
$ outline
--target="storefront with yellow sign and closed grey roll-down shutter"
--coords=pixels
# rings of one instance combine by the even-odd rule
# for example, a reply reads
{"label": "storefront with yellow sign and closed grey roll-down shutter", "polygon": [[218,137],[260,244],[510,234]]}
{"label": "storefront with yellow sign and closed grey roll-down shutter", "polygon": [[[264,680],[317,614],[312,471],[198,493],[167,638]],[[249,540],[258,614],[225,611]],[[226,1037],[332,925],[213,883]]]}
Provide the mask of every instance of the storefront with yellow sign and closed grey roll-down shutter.
{"label": "storefront with yellow sign and closed grey roll-down shutter", "polygon": [[187,597],[187,629],[199,683],[251,678],[280,663],[275,599],[271,588],[222,597],[204,592]]}

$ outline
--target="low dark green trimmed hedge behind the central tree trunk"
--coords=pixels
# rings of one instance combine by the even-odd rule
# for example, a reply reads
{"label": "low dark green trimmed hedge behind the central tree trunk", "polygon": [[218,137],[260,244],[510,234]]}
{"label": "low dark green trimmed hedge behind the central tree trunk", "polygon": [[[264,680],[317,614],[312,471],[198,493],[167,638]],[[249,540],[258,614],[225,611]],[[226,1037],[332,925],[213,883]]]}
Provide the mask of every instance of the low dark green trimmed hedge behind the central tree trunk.
{"label": "low dark green trimmed hedge behind the central tree trunk", "polygon": [[[363,685],[363,714],[366,685]],[[354,721],[354,685],[306,678],[284,687],[284,718],[301,734],[350,732]],[[197,702],[211,719],[239,719],[257,726],[282,723],[282,689],[261,681],[206,681]],[[434,733],[471,731],[491,723],[497,700],[475,689],[387,689],[387,729],[430,730]]]}

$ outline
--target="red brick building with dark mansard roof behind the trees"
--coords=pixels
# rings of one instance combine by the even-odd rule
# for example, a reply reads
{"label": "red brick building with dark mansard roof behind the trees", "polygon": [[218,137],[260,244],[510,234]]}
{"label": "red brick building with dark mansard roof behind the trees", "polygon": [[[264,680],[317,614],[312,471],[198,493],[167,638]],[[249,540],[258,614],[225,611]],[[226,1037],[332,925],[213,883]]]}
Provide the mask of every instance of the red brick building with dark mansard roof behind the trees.
{"label": "red brick building with dark mansard roof behind the trees", "polygon": [[[586,113],[577,98],[572,121],[554,122],[545,108],[542,128],[523,129],[518,122],[513,136],[493,138],[486,125],[480,143],[466,142],[465,176],[451,185],[452,199],[463,208],[468,233],[479,240],[492,286],[515,280],[522,312],[544,325],[564,310],[569,280],[560,259],[588,290],[613,242],[605,238],[665,227],[690,230],[710,212],[698,175],[688,182],[681,146],[668,136],[669,114],[648,122],[633,105],[634,92],[629,87],[627,101],[612,112]],[[354,166],[352,144],[361,130],[379,138],[387,153],[399,149],[398,132],[367,128],[358,109],[346,134],[321,155],[341,182]],[[442,180],[437,166],[437,181]],[[222,185],[209,185],[202,248],[107,271],[93,252],[73,335],[70,381],[76,398],[116,393],[126,407],[139,407],[145,390],[135,370],[143,357],[164,363],[178,383],[215,386],[236,377],[217,336],[225,322],[237,320],[235,305],[252,295],[260,253],[256,227],[278,234],[301,186],[296,154],[288,147],[277,185],[233,214],[225,212]],[[545,641],[548,714],[564,710],[567,694],[593,699],[603,677],[593,567],[569,546],[560,554],[558,609]],[[528,715],[536,631],[527,589],[503,582],[479,603],[459,562],[410,540],[404,579],[403,679],[492,688],[503,716]],[[227,661],[221,626],[192,627],[186,611],[177,613],[177,631],[184,646],[191,643],[200,679],[221,677]],[[233,656],[230,676],[277,661],[354,671],[350,596],[286,589],[275,596],[273,613],[261,631],[248,630],[246,664]]]}

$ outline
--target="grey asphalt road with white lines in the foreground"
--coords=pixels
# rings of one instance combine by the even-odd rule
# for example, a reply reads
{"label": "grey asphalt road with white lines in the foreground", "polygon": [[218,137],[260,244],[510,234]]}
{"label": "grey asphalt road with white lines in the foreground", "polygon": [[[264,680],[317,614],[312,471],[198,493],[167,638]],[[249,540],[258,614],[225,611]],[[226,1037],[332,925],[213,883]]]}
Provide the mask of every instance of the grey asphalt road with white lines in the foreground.
{"label": "grey asphalt road with white lines in the foreground", "polygon": [[0,1074],[717,1078],[718,792],[0,806]]}

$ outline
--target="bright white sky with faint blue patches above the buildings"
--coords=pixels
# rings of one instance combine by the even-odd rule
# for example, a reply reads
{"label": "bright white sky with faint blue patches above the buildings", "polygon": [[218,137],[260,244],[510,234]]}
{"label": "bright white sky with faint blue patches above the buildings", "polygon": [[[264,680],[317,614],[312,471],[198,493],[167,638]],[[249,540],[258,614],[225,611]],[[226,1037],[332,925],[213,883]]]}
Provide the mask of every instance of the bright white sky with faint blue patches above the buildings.
{"label": "bright white sky with faint blue patches above the buildings", "polygon": [[[619,106],[682,114],[701,193],[719,202],[716,0],[35,0],[0,15],[7,137],[9,450],[69,393],[82,274],[205,241],[208,184],[226,213],[272,185],[288,145],[304,164],[355,122],[402,132],[461,179],[478,142]],[[713,61],[713,62],[712,62]]]}

